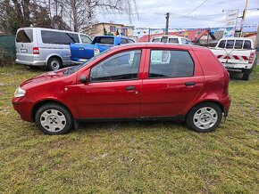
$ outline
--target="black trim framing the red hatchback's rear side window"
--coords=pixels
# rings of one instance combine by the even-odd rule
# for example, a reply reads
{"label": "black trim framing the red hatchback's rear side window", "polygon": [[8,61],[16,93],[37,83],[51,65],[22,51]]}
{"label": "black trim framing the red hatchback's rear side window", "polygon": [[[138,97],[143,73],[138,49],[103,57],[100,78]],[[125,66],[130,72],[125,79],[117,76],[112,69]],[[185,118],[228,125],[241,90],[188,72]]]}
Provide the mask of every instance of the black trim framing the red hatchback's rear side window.
{"label": "black trim framing the red hatchback's rear side window", "polygon": [[149,65],[148,65],[148,75],[147,75],[147,79],[169,79],[169,78],[184,78],[184,77],[149,77],[149,73],[150,73],[150,64],[151,64],[151,52],[152,51],[180,51],[180,52],[187,52],[191,58],[191,60],[193,61],[194,64],[194,69],[193,69],[193,75],[189,76],[189,77],[194,77],[195,76],[195,69],[196,69],[196,63],[192,58],[192,55],[188,52],[188,50],[178,50],[178,49],[168,49],[168,48],[155,48],[155,49],[150,49],[150,53],[149,53]]}

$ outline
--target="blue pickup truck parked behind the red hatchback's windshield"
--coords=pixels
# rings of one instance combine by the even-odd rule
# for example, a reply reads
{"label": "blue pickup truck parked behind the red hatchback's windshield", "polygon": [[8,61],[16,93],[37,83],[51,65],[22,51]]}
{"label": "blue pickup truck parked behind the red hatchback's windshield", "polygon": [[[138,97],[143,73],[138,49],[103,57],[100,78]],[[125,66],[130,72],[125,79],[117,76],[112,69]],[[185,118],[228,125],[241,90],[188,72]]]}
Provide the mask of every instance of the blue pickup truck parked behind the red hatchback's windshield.
{"label": "blue pickup truck parked behind the red hatchback's windshield", "polygon": [[96,36],[89,44],[71,44],[71,61],[82,63],[114,45],[134,43],[127,36]]}

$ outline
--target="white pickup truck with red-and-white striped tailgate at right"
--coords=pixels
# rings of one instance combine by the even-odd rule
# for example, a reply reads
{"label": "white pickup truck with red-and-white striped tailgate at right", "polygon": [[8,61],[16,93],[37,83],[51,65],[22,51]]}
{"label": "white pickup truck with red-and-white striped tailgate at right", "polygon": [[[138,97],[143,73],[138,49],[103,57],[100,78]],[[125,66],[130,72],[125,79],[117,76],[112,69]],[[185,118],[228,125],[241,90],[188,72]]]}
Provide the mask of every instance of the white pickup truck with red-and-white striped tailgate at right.
{"label": "white pickup truck with red-and-white striped tailgate at right", "polygon": [[243,80],[248,80],[256,65],[255,46],[245,37],[221,38],[219,43],[210,48],[229,72],[243,73]]}

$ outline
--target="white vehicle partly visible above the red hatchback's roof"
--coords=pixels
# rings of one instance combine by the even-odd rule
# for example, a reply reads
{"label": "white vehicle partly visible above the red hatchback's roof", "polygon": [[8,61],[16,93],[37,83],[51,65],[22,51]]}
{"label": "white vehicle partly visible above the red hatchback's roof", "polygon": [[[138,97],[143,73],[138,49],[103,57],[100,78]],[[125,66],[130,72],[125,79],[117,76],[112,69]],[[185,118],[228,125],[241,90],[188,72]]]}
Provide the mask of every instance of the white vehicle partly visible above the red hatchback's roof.
{"label": "white vehicle partly visible above the red hatchback's roof", "polygon": [[192,44],[192,42],[181,36],[154,36],[150,42],[153,43],[173,43],[173,44]]}

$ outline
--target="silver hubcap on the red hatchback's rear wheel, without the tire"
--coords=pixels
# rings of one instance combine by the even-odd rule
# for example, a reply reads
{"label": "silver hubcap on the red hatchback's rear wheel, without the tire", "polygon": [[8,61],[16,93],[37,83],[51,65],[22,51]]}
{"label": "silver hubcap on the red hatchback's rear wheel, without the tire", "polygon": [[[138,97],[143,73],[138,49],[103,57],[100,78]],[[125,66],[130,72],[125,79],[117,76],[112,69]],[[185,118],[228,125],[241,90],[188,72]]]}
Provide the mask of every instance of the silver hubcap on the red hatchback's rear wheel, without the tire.
{"label": "silver hubcap on the red hatchback's rear wheel, without the tire", "polygon": [[209,129],[216,124],[217,120],[218,114],[211,107],[198,109],[193,117],[193,122],[199,129]]}

